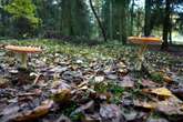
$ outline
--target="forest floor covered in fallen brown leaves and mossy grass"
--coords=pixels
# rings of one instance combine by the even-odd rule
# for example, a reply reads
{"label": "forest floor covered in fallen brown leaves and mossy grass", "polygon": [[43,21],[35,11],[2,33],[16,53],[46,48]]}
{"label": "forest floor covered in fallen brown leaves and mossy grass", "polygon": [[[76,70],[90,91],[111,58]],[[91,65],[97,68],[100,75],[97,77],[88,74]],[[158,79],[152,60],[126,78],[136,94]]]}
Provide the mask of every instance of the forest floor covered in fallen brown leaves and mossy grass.
{"label": "forest floor covered in fallen brown leaves and mossy grass", "polygon": [[135,71],[139,47],[118,42],[3,41],[37,45],[29,69],[0,48],[0,122],[182,122],[183,57],[150,48]]}

